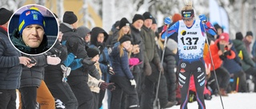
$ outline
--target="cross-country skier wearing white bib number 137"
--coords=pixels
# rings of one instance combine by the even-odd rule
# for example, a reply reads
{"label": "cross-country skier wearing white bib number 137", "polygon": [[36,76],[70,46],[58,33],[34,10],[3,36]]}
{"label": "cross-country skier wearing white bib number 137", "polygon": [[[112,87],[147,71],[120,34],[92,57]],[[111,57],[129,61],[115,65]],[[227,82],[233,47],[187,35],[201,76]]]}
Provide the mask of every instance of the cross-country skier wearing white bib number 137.
{"label": "cross-country skier wearing white bib number 137", "polygon": [[[205,15],[200,15],[199,18],[200,20],[194,19],[192,2],[187,2],[186,6],[182,8],[182,20],[177,21],[168,29],[167,36],[165,33],[167,26],[162,32],[162,39],[170,37],[173,33],[178,33],[178,84],[182,94],[181,109],[187,108],[191,75],[194,75],[198,108],[206,108],[203,98],[206,83],[206,68],[203,60],[203,49],[206,41],[204,33],[205,30],[213,36],[216,33],[210,22],[206,21]],[[170,18],[166,18],[165,23],[170,25]]]}

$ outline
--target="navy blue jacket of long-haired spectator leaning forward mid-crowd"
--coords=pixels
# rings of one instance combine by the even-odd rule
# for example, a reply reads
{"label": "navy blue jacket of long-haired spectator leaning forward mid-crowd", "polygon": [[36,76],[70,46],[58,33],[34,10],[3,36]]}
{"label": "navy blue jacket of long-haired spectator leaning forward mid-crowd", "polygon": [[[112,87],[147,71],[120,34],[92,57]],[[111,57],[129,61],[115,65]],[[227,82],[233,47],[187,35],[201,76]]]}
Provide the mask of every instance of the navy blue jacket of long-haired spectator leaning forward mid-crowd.
{"label": "navy blue jacket of long-haired spectator leaning forward mid-crowd", "polygon": [[134,79],[133,74],[130,72],[128,52],[126,49],[122,49],[124,55],[120,57],[119,46],[114,46],[112,53],[110,53],[110,58],[112,59],[113,70],[115,72],[114,76],[126,76],[129,80]]}

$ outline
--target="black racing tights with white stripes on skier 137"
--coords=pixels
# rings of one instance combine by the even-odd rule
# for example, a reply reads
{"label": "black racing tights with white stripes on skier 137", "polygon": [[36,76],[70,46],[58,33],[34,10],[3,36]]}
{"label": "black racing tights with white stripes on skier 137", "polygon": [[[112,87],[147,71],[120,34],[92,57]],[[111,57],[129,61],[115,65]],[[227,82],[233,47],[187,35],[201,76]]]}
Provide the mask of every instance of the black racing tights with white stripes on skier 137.
{"label": "black racing tights with white stripes on skier 137", "polygon": [[198,101],[198,108],[206,108],[203,91],[206,84],[206,68],[204,60],[187,62],[180,60],[178,64],[178,84],[181,89],[181,108],[187,109],[189,99],[190,76],[194,75],[194,85]]}

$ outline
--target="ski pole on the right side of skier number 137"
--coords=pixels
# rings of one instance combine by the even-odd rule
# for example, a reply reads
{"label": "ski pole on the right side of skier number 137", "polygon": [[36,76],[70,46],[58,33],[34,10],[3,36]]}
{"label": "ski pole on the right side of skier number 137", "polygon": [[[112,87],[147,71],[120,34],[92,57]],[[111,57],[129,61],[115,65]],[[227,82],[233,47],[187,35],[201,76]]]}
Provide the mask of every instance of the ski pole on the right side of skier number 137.
{"label": "ski pole on the right side of skier number 137", "polygon": [[[214,78],[215,78],[215,81],[216,81],[216,84],[217,84],[218,92],[220,92],[219,85],[218,85],[218,79],[217,79],[216,72],[215,72],[215,67],[214,67],[214,60],[213,60],[213,56],[211,55],[211,52],[210,52],[210,43],[209,43],[209,41],[207,39],[207,35],[206,35],[205,24],[206,24],[205,22],[202,23],[203,29],[205,30],[204,37],[206,37],[206,44],[208,45],[208,51],[210,53],[210,63],[213,65]],[[222,101],[222,95],[219,95],[219,98],[221,99],[221,102],[222,102],[222,109],[224,109],[224,105],[223,105],[223,101]]]}

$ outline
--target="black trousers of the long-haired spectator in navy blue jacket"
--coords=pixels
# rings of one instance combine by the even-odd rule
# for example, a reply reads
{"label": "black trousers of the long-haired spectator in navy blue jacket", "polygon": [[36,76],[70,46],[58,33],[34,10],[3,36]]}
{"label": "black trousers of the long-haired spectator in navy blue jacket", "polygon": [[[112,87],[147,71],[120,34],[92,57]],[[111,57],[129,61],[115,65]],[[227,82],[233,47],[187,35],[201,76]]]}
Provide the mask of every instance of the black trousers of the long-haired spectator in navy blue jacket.
{"label": "black trousers of the long-haired spectator in navy blue jacket", "polygon": [[127,107],[138,109],[138,94],[134,86],[131,86],[130,80],[126,77],[112,76],[111,82],[115,84],[115,90],[112,91],[111,109],[121,109],[123,93],[126,93]]}

